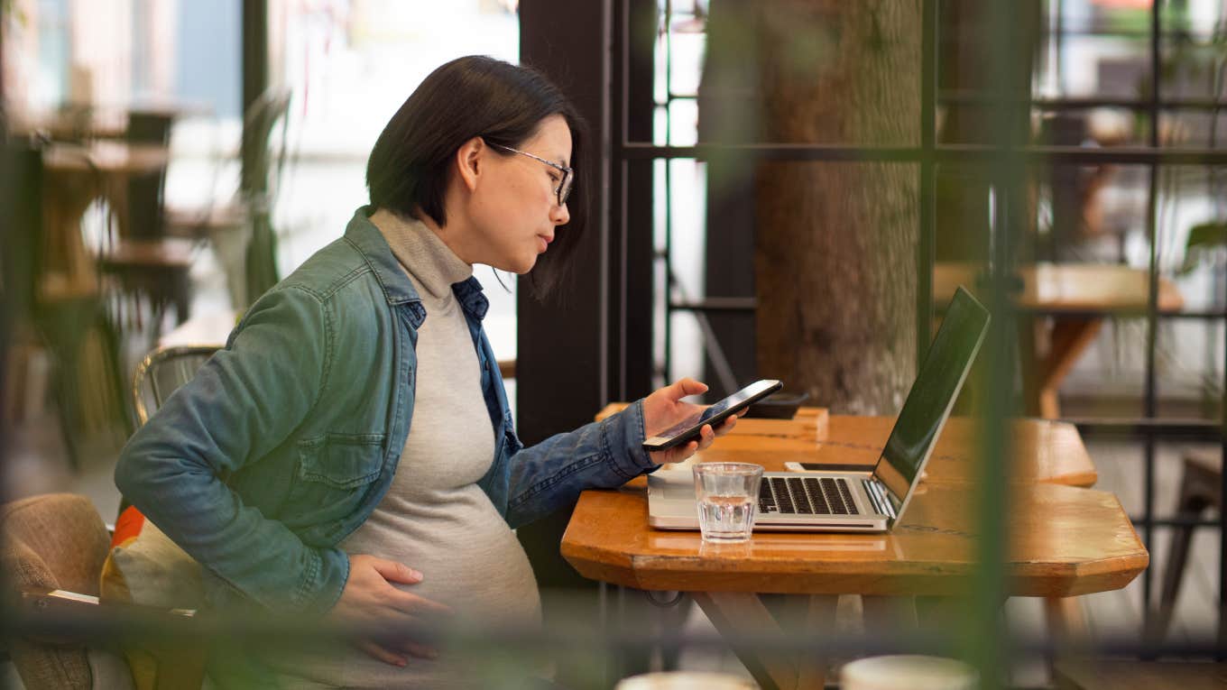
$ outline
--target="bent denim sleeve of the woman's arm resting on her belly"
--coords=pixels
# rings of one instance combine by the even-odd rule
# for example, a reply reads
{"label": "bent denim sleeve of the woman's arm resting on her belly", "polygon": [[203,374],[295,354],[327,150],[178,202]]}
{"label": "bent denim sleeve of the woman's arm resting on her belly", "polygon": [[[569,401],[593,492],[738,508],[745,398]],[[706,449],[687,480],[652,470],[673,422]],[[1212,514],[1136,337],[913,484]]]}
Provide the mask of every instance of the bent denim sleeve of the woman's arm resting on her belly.
{"label": "bent denim sleeve of the woman's arm resting on her belly", "polygon": [[221,478],[281,444],[319,403],[330,336],[315,295],[266,293],[227,347],[137,430],[115,468],[117,486],[148,519],[212,575],[274,610],[331,608],[348,559],[306,545]]}

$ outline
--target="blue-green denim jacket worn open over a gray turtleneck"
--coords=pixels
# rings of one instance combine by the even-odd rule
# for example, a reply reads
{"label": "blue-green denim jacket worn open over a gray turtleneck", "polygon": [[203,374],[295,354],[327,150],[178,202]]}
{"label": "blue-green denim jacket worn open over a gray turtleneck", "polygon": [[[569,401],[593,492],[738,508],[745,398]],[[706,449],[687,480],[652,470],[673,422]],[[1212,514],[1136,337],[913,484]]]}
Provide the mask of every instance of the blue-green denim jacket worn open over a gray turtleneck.
{"label": "blue-green denim jacket worn open over a gray turtleneck", "polygon": [[[337,544],[401,460],[427,313],[371,212],[358,209],[342,238],[260,297],[120,454],[119,490],[205,566],[212,605],[330,609],[350,567]],[[453,291],[497,440],[480,486],[508,524],[656,468],[640,447],[642,401],[524,448],[481,327],[481,285],[470,277]]]}

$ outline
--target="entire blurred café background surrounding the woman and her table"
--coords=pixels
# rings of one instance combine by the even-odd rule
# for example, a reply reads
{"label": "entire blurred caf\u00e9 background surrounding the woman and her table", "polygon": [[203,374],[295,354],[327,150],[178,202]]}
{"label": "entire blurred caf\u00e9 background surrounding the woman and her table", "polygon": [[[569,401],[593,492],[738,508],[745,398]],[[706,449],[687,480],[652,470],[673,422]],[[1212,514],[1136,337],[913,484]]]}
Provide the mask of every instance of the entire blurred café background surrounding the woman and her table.
{"label": "entire blurred caf\u00e9 background surrounding the woman and her table", "polygon": [[[540,303],[523,279],[476,271],[525,442],[682,376],[710,383],[710,400],[774,377],[832,414],[894,415],[953,285],[989,291],[1009,274],[1009,414],[1076,427],[1096,489],[1150,552],[1124,589],[1079,598],[1091,643],[1222,661],[1223,1],[0,11],[5,501],[74,492],[113,522],[146,354],[225,343],[366,203],[369,149],[422,77],[488,54],[557,80],[604,142],[600,220],[567,298]],[[1000,16],[1012,43],[993,39]],[[880,41],[907,56],[875,63]],[[994,178],[1001,131],[1021,133],[1012,189]],[[891,327],[856,330],[847,314],[863,308]],[[802,328],[805,314],[836,325]],[[539,582],[582,589],[557,556],[566,516],[551,522],[521,530]],[[1005,610],[1020,636],[1045,625],[1034,600]],[[709,630],[682,613],[686,630]],[[728,649],[653,663],[748,678]],[[1043,664],[1011,680],[1053,683]]]}

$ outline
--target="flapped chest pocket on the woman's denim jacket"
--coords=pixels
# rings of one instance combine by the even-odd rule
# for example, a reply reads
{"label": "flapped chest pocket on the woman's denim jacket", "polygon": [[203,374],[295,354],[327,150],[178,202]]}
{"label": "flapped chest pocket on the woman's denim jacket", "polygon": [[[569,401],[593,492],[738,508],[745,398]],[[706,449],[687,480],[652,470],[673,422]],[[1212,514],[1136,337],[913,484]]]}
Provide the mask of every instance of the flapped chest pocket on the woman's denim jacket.
{"label": "flapped chest pocket on the woman's denim jacket", "polygon": [[298,442],[298,468],[282,511],[291,528],[352,519],[383,467],[383,435],[329,433]]}

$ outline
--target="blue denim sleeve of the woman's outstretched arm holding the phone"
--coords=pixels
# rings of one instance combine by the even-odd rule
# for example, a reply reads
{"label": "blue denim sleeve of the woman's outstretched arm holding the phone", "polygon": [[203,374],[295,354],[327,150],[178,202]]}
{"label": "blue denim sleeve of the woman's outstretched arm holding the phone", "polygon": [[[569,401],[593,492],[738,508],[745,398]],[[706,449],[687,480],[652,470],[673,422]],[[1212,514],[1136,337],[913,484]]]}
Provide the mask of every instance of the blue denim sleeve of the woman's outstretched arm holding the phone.
{"label": "blue denim sleeve of the woman's outstretched arm holding the phone", "polygon": [[507,522],[513,528],[575,502],[585,489],[615,489],[658,469],[643,449],[643,400],[510,457]]}

